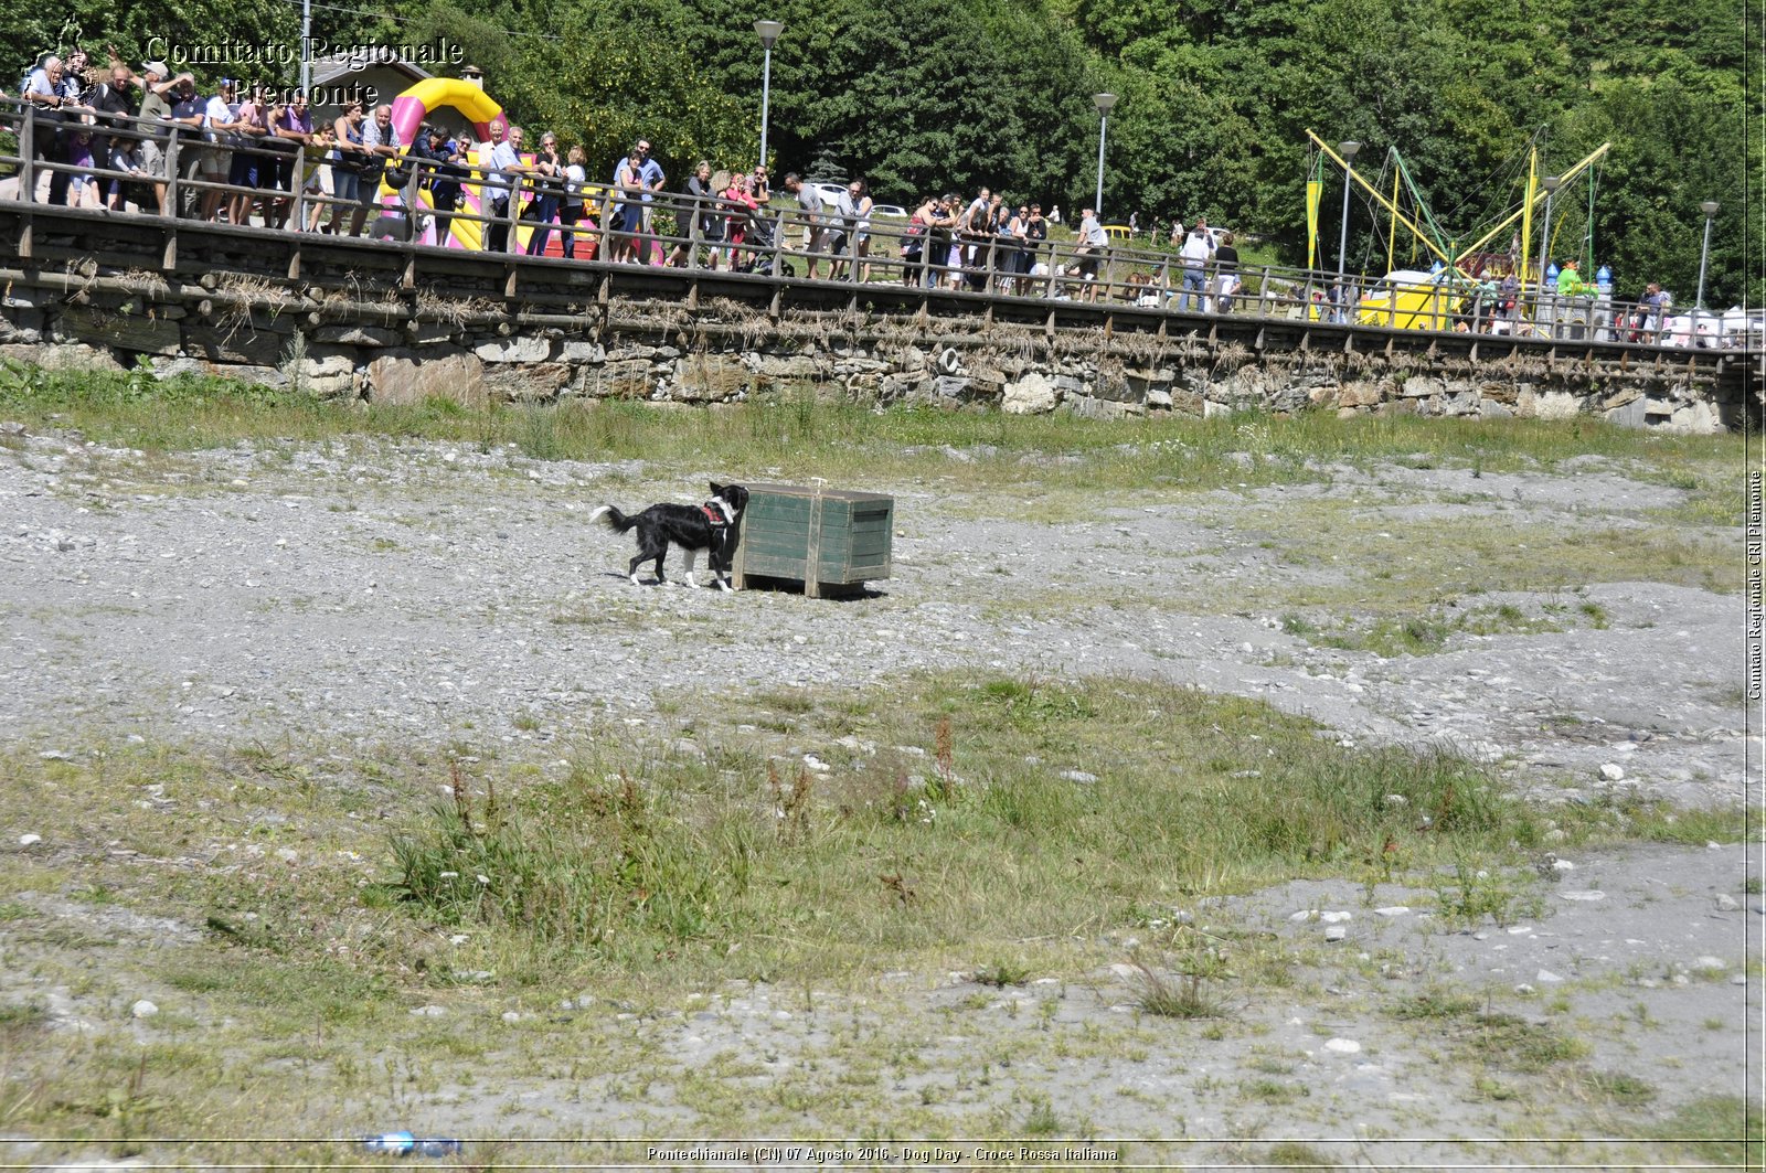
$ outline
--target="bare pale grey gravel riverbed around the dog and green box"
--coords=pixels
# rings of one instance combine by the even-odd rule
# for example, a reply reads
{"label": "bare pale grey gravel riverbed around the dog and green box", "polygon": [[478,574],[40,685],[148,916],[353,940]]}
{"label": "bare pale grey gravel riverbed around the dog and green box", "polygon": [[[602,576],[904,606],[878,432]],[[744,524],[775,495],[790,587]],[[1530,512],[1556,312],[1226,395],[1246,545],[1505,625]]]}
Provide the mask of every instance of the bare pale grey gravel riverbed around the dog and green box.
{"label": "bare pale grey gravel riverbed around the dog and green box", "polygon": [[[1554,586],[1480,601],[1570,617],[1559,624],[1462,631],[1436,654],[1381,657],[1310,641],[1279,602],[1284,592],[1323,590],[1349,613],[1365,576],[1294,565],[1257,541],[1282,511],[1319,496],[1388,521],[1399,535],[1390,558],[1406,556],[1402,534],[1418,518],[1499,514],[1625,535],[1644,534],[1657,525],[1651,511],[1678,500],[1678,489],[1598,459],[1475,479],[1339,468],[1324,486],[1211,493],[1194,507],[1123,500],[1070,521],[1040,519],[1033,507],[991,516],[1001,511],[932,484],[855,486],[895,495],[895,565],[890,579],[841,601],[638,588],[623,576],[630,539],[585,523],[602,502],[696,500],[708,477],[728,472],[648,481],[630,463],[392,442],[141,456],[67,435],[14,435],[0,447],[0,730],[12,747],[42,754],[99,738],[233,744],[314,731],[343,745],[443,744],[463,730],[539,754],[547,735],[525,714],[544,715],[547,728],[572,715],[666,723],[659,705],[682,694],[857,689],[970,666],[1127,673],[1254,696],[1346,740],[1453,745],[1501,763],[1540,800],[1759,798],[1750,793],[1759,779],[1745,770],[1761,745],[1757,730],[1752,744],[1743,731],[1738,595],[1609,572],[1574,595]],[[1740,560],[1740,530],[1734,537]],[[1623,565],[1625,549],[1612,558]],[[42,830],[26,827],[28,813],[5,821],[12,837]],[[1240,1010],[1263,1032],[1254,1049],[1280,1053],[1280,1063],[1264,1071],[1227,1044],[1203,1058],[1166,1055],[1155,1032],[1136,1025],[1125,1046],[1151,1048],[1150,1060],[1024,1065],[1000,1072],[977,1102],[1040,1095],[1060,1120],[1097,1136],[1213,1138],[1211,1148],[1171,1148],[1167,1161],[1231,1155],[1233,1136],[1284,1134],[1319,1136],[1321,1152],[1349,1164],[1446,1159],[1459,1152],[1443,1147],[1448,1138],[1498,1138],[1517,1108],[1441,1069],[1429,1041],[1369,1010],[1372,989],[1436,982],[1503,991],[1522,1014],[1529,998],[1572,996],[1591,1062],[1657,1088],[1642,1116],[1741,1094],[1740,1026],[1761,1012],[1748,973],[1757,975],[1762,910],[1757,885],[1745,890],[1745,850],[1660,846],[1568,862],[1551,915],[1526,931],[1439,933],[1409,912],[1418,894],[1402,889],[1381,892],[1377,910],[1342,883],[1243,897],[1241,917],[1296,940],[1340,942],[1344,957],[1358,957],[1330,979],[1337,993],[1324,1005]],[[1001,1039],[1042,1021],[1116,1028],[1130,1018],[1130,979],[1102,970],[1083,993],[1065,982],[1005,991],[977,1021]],[[906,1014],[902,1030],[931,1032],[922,1074],[902,1083],[902,1095],[920,1095],[973,1049],[938,1014],[975,988],[962,975],[902,980],[911,998],[879,995],[848,1010]],[[779,1016],[781,998],[740,991],[653,1030],[680,1071],[721,1041],[758,1033],[788,1055],[825,1048],[812,1018]],[[1047,1000],[1053,1010],[1042,1010]],[[1614,1028],[1626,1014],[1644,1025]],[[1305,1085],[1305,1101],[1275,1092],[1247,1101],[1243,1083],[1259,1071]],[[510,1120],[507,1104],[562,1095],[523,1085],[438,1097],[413,1118],[494,1131]],[[608,1127],[625,1134],[692,1125],[685,1111],[604,1108]],[[1582,1109],[1593,1111],[1574,1101],[1561,1111],[1526,1106],[1528,1120],[1559,1120],[1572,1136],[1589,1118]],[[1370,1136],[1418,1139],[1369,1145]],[[1496,1164],[1536,1154],[1505,1155],[1499,1141],[1476,1152]]]}

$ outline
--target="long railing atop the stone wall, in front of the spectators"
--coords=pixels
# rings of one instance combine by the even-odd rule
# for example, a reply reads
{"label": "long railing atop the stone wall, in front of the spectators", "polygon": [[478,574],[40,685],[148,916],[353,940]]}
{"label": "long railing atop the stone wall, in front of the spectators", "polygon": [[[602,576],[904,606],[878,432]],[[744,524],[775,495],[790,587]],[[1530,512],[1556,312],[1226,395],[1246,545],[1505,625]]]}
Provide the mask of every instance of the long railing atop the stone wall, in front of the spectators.
{"label": "long railing atop the stone wall, in front of the spectators", "polygon": [[[962,233],[948,221],[857,221],[835,208],[819,214],[805,214],[795,205],[754,208],[722,196],[620,191],[604,184],[572,189],[562,178],[539,180],[530,173],[503,178],[484,152],[470,163],[438,161],[401,147],[383,168],[371,164],[358,173],[371,194],[341,200],[332,194],[336,175],[327,175],[343,171],[332,147],[295,141],[274,147],[242,132],[210,136],[125,115],[87,111],[90,120],[81,120],[79,110],[69,113],[72,118],[57,122],[34,115],[19,99],[0,99],[0,132],[16,136],[16,152],[0,152],[0,171],[16,173],[16,191],[7,191],[14,180],[0,180],[0,198],[39,201],[44,182],[51,198],[97,184],[101,193],[120,193],[120,200],[111,196],[117,203],[147,205],[143,210],[170,219],[214,219],[224,212],[242,228],[323,228],[341,235],[339,217],[348,214],[350,230],[390,237],[403,247],[533,253],[556,263],[747,272],[844,286],[855,299],[885,283],[920,290],[925,297],[1051,307],[1065,302],[1604,344],[1761,344],[1759,323],[1734,330],[1708,311],[1688,322],[1660,306],[1566,299],[1531,288],[1510,297],[1492,284],[1464,279],[1392,290],[1362,276],[1339,288],[1335,274],[1328,272],[1194,265],[1158,247],[1111,244],[1090,251],[1075,240]],[[53,134],[55,143],[46,147],[44,134]],[[141,150],[124,152],[138,157],[140,166],[109,166],[111,157],[71,163],[67,150],[79,134],[106,147],[115,141],[140,145]],[[256,184],[230,182],[238,175],[235,159],[258,161]],[[214,178],[217,173],[228,178]],[[260,224],[253,224],[254,219]],[[560,256],[549,253],[553,235]]]}

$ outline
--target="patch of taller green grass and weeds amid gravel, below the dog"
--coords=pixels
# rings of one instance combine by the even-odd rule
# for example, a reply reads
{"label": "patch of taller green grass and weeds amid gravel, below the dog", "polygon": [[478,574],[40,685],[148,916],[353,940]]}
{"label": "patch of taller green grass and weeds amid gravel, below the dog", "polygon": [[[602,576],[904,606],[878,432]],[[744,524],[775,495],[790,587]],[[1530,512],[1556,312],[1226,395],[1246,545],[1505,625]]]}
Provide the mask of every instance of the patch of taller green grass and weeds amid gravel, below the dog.
{"label": "patch of taller green grass and weeds amid gravel, below the dog", "polygon": [[[1436,867],[1547,830],[1468,760],[1346,749],[1192,689],[959,673],[849,700],[758,694],[715,715],[789,735],[828,774],[719,737],[706,758],[609,742],[565,777],[459,783],[396,839],[390,892],[487,933],[505,975],[668,959],[683,977],[814,977],[961,950],[1010,979],[1012,942],[1360,874],[1388,843]],[[1584,818],[1579,837],[1604,814]]]}

